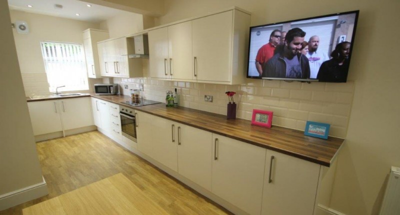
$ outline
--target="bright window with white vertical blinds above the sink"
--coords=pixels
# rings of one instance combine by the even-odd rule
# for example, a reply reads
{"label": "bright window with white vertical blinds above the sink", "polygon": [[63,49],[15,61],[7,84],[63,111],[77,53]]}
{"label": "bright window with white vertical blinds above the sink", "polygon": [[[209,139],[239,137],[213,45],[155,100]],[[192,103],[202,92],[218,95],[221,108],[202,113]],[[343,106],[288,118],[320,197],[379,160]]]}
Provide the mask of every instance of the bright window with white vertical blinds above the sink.
{"label": "bright window with white vertical blinds above the sink", "polygon": [[62,85],[58,91],[89,89],[83,45],[44,41],[40,46],[50,92]]}

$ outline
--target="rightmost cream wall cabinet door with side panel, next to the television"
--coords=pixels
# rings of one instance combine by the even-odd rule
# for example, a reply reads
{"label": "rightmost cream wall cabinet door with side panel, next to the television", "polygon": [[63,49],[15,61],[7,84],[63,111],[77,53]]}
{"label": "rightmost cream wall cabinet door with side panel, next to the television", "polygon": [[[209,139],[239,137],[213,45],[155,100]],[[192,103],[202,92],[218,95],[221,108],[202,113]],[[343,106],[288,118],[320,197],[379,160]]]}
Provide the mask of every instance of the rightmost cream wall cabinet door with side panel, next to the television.
{"label": "rightmost cream wall cabinet door with side panel, next to the television", "polygon": [[199,82],[242,83],[250,15],[233,9],[193,20],[194,74]]}

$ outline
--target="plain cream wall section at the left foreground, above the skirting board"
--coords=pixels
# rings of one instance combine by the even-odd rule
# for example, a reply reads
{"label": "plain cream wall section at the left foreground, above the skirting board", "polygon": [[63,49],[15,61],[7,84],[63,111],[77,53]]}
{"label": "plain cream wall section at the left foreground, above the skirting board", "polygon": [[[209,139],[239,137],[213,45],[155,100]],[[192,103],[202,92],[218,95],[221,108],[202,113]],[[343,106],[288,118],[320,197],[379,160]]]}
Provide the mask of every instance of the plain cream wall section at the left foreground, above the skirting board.
{"label": "plain cream wall section at the left foreground, above the skirting board", "polygon": [[0,1],[0,196],[42,182],[10,23]]}

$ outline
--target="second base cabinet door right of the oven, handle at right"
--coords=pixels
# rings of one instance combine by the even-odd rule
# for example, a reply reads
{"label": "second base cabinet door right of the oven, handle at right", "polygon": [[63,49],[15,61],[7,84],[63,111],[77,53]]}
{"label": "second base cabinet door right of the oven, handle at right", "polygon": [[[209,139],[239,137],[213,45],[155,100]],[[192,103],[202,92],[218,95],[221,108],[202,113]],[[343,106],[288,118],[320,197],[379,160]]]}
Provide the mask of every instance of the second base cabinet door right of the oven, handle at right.
{"label": "second base cabinet door right of the oven, handle at right", "polygon": [[153,158],[168,168],[177,171],[177,123],[151,115],[151,129],[156,131],[152,135]]}

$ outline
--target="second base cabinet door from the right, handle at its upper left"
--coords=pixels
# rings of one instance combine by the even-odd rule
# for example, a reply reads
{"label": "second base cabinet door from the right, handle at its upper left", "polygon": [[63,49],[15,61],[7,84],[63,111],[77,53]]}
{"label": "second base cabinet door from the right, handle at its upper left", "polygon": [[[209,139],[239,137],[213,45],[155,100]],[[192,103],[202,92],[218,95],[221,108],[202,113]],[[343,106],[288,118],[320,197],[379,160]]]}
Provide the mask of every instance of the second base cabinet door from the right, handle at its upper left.
{"label": "second base cabinet door from the right, handle at its upper left", "polygon": [[266,149],[214,133],[212,141],[211,191],[249,214],[260,214]]}

